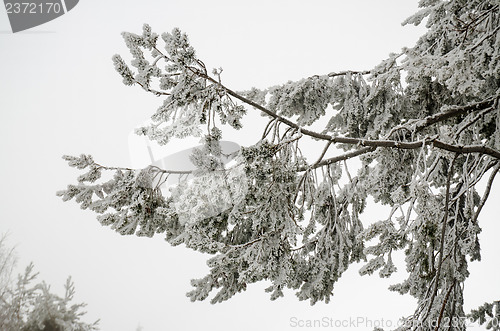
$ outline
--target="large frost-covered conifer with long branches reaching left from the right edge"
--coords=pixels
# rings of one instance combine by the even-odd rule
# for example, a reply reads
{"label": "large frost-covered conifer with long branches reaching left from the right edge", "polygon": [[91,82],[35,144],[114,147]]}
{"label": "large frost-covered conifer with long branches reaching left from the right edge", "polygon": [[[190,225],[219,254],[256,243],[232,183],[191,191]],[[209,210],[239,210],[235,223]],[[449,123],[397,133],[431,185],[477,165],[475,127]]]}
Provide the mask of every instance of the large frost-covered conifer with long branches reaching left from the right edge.
{"label": "large frost-covered conifer with long branches reaching left from the right edge", "polygon": [[[239,198],[218,214],[207,217],[211,206],[203,203],[211,202],[199,200],[188,217],[189,208],[176,209],[189,206],[179,199],[201,197],[205,181],[165,196],[158,178],[179,171],[106,167],[82,155],[64,157],[87,172],[58,195],[120,234],[163,234],[212,254],[210,273],[192,281],[193,301],[216,290],[211,302],[221,302],[267,280],[271,299],[289,288],[311,304],[328,302],[351,263],[366,261],[361,274],[390,277],[392,254],[402,251],[407,279],[390,290],[418,304],[401,329],[464,329],[455,323],[467,316],[463,284],[468,263],[481,258],[480,212],[500,169],[499,2],[421,0],[420,7],[405,24],[425,20],[427,32],[371,70],[243,92],[224,85],[221,70],[207,70],[179,29],[123,33],[133,57],[131,66],[113,57],[123,82],[163,98],[152,124],[137,132],[162,145],[203,136],[191,178],[227,179],[221,128],[241,128],[247,112],[269,119],[262,138],[235,156],[245,185],[220,190]],[[311,141],[321,147],[309,160],[301,147]],[[359,161],[357,172],[347,168],[350,159]],[[100,179],[104,171],[113,178]],[[364,226],[368,197],[388,213]],[[499,313],[493,302],[468,316],[485,322]]]}

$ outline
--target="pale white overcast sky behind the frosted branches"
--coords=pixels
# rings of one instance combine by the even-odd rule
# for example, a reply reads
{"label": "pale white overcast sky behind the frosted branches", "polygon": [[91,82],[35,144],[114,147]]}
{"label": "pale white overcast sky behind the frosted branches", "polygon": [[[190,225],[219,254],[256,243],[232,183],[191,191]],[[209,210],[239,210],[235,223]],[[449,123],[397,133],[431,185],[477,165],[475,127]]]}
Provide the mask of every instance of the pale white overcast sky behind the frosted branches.
{"label": "pale white overcast sky behind the frosted branches", "polygon": [[[293,330],[293,317],[395,322],[411,313],[411,298],[386,290],[394,279],[360,278],[356,266],[328,305],[311,307],[292,292],[271,302],[266,284],[223,304],[191,303],[189,280],[205,275],[206,256],[172,248],[161,236],[121,237],[55,192],[78,174],[63,154],[128,166],[128,133],[161,103],[124,86],[114,71],[111,56],[127,54],[122,31],[139,33],[143,23],[160,33],[180,27],[208,67],[224,68],[227,86],[244,90],[370,69],[415,43],[423,29],[400,25],[415,10],[409,0],[85,0],[52,22],[12,34],[0,9],[0,232],[11,233],[19,266],[33,261],[40,279],[59,292],[71,275],[77,300],[88,303],[85,319],[101,318],[106,331]],[[483,211],[483,263],[471,267],[468,307],[500,297],[499,186]],[[365,329],[371,328],[360,325]]]}

